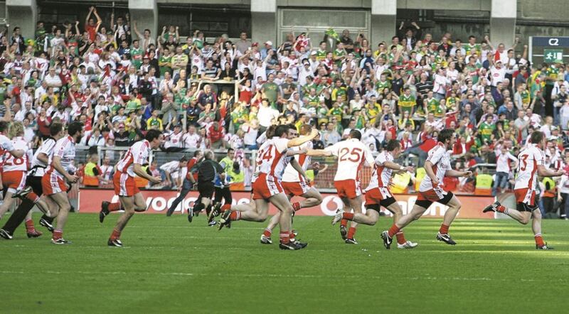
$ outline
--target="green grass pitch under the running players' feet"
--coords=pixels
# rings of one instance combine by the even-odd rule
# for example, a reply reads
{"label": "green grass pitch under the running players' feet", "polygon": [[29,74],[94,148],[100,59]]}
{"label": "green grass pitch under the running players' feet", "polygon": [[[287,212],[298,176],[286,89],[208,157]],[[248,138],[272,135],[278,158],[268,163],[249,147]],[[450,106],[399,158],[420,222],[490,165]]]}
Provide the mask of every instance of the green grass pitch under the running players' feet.
{"label": "green grass pitch under the running players' feet", "polygon": [[[36,221],[38,216],[35,216]],[[4,220],[7,219],[4,217]],[[544,220],[555,251],[536,251],[530,225],[461,220],[458,245],[435,240],[440,220],[405,228],[413,250],[381,244],[361,225],[344,244],[331,217],[297,217],[302,251],[262,245],[265,223],[231,229],[185,215],[135,215],[124,248],[107,247],[117,215],[70,215],[69,246],[44,233],[0,239],[0,313],[560,313],[569,288],[569,223]],[[36,226],[45,231],[43,227]],[[278,236],[275,230],[273,239]],[[276,235],[276,237],[275,237]],[[277,241],[275,241],[276,243]],[[350,311],[350,312],[348,312]]]}

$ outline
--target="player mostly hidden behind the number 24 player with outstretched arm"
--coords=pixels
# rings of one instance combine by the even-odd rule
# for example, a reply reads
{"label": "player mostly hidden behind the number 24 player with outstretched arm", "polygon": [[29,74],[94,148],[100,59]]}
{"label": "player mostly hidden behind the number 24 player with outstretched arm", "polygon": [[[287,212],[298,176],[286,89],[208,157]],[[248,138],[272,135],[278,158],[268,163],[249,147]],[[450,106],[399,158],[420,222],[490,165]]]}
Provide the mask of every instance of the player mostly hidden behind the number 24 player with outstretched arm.
{"label": "player mostly hidden behind the number 24 player with outstretched arm", "polygon": [[[295,132],[297,132],[296,129],[289,130],[289,135],[291,139],[298,137],[298,134],[295,134]],[[300,127],[300,135],[306,136],[310,134],[310,132],[312,132],[312,126],[310,124],[304,124]],[[323,154],[316,153],[318,151],[312,150],[312,141],[307,141],[301,146],[296,146],[293,147],[292,149],[311,151],[311,154],[302,153],[300,155],[294,156],[294,158],[296,158],[297,162],[302,167],[302,170],[304,170],[305,173],[306,170],[308,170],[309,168],[313,168],[314,166],[318,167],[317,163],[311,165],[310,163],[311,156],[322,156]],[[293,196],[304,197],[304,200],[302,200],[301,202],[292,203],[292,210],[294,212],[297,212],[301,208],[314,207],[320,205],[320,203],[322,202],[322,195],[318,192],[316,188],[311,187],[307,182],[307,180],[304,180],[304,176],[301,173],[299,173],[296,169],[294,169],[292,163],[289,163],[287,165],[287,168],[285,168],[285,173],[283,173],[282,175],[281,185],[282,189],[285,190],[285,195],[287,195],[289,199],[291,199]],[[269,225],[262,232],[261,234],[262,244],[272,244],[272,239],[271,239],[272,229],[277,227],[277,224],[279,224],[280,215],[282,215],[281,212],[277,212],[277,214],[272,216]],[[294,240],[295,236],[296,234],[294,233],[294,230],[291,230],[290,232],[291,241]]]}

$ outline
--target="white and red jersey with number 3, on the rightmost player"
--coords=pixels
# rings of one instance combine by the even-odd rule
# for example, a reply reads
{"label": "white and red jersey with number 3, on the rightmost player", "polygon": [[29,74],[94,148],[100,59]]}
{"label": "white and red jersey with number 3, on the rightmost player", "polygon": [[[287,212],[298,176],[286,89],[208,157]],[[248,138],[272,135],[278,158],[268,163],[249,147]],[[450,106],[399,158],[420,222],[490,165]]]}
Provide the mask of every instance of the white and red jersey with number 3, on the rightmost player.
{"label": "white and red jersey with number 3, on the rightmost player", "polygon": [[538,184],[538,166],[543,166],[546,154],[539,149],[536,144],[529,144],[528,147],[518,155],[518,178],[514,190],[528,188],[536,190]]}

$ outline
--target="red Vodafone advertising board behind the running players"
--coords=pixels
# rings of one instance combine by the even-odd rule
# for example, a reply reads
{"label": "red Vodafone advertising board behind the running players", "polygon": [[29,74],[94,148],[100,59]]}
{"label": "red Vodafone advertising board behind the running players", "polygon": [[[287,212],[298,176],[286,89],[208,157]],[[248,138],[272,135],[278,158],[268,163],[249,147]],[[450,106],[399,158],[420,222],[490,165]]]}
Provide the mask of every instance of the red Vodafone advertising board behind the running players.
{"label": "red Vodafone advertising board behind the running players", "polygon": [[[171,190],[143,190],[142,195],[147,199],[148,214],[162,214],[170,207],[171,203],[178,196],[178,192]],[[249,192],[233,192],[233,204],[243,204],[250,202],[251,193]],[[299,210],[296,215],[305,216],[334,216],[336,210],[343,207],[341,199],[332,193],[322,193],[324,200],[319,206],[311,208],[303,208]],[[176,208],[176,213],[181,213],[181,208],[185,210],[193,205],[193,202],[198,197],[197,191],[191,191],[186,196],[184,202]],[[462,202],[462,208],[459,212],[458,217],[461,218],[484,218],[484,219],[494,219],[493,212],[482,213],[482,208],[484,206],[494,202],[494,197],[482,197],[482,196],[467,196],[458,195],[457,196]],[[100,189],[81,189],[79,193],[79,212],[99,212],[101,210],[101,202],[107,200],[110,202],[119,202],[119,197],[115,195],[114,190],[100,190]],[[417,195],[395,195],[398,200],[399,205],[403,209],[403,213],[409,212],[415,200],[417,200]],[[297,200],[297,197],[293,197],[292,201]],[[298,197],[298,200],[302,200],[302,197]],[[383,209],[385,214],[390,215],[390,212]],[[434,203],[429,207],[427,212],[423,217],[438,218],[443,217],[447,211],[447,206],[441,205],[439,203]],[[270,214],[277,212],[277,208],[273,205],[270,206]]]}

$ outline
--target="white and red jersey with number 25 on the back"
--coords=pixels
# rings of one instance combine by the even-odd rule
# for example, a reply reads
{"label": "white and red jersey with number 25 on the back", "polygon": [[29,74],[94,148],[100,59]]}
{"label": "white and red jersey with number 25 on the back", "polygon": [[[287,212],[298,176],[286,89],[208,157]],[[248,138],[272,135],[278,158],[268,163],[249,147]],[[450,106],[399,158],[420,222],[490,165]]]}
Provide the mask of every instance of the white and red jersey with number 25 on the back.
{"label": "white and red jersey with number 25 on the back", "polygon": [[366,163],[373,165],[373,155],[366,144],[358,139],[346,139],[326,147],[332,155],[338,157],[338,170],[336,170],[335,181],[340,180],[359,180],[361,166]]}

